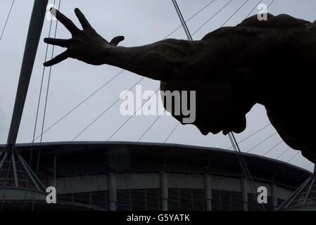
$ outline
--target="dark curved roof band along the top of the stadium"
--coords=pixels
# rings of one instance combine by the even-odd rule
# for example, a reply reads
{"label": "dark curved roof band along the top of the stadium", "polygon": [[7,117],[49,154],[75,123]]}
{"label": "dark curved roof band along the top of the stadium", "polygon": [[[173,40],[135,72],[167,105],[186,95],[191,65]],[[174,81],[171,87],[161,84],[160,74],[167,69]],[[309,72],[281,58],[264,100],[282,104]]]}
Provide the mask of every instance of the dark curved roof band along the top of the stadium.
{"label": "dark curved roof band along the top of the stadium", "polygon": [[[27,159],[32,143],[18,144],[17,148]],[[35,143],[34,152],[38,149],[39,144]],[[58,172],[64,172],[63,176],[160,171],[243,176],[236,153],[220,148],[163,143],[56,142],[42,143],[41,152],[40,170],[50,169],[57,155]],[[254,180],[297,188],[310,176],[307,170],[286,162],[248,153],[243,155]]]}

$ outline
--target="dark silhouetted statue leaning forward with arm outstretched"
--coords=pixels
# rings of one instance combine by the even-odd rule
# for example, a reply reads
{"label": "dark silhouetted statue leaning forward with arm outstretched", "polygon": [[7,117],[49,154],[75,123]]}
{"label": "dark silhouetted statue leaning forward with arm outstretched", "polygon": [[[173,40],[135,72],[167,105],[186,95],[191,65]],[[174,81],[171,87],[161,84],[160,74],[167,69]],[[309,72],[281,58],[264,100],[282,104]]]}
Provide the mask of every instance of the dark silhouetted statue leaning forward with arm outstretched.
{"label": "dark silhouetted statue leaning forward with arm outstretched", "polygon": [[282,139],[316,162],[311,131],[316,115],[316,23],[270,14],[259,21],[254,15],[236,27],[210,32],[201,41],[165,39],[127,48],[118,46],[124,37],[108,42],[79,9],[75,13],[83,30],[56,11],[72,39],[44,39],[68,48],[44,65],[77,58],[158,79],[161,90],[195,90],[194,124],[204,135],[244,131],[246,113],[260,103]]}

